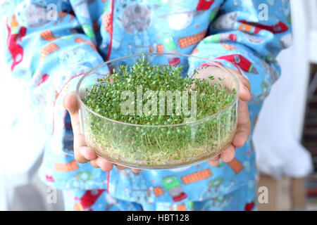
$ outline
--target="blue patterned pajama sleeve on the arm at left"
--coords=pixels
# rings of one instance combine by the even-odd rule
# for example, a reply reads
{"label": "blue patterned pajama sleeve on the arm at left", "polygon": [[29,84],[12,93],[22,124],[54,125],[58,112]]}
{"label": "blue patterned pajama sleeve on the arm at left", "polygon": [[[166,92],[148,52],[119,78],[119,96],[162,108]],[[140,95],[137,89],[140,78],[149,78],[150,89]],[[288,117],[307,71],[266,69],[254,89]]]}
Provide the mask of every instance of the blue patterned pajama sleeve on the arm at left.
{"label": "blue patterned pajama sleeve on the arm at left", "polygon": [[73,131],[62,106],[63,96],[75,90],[83,72],[104,62],[94,46],[97,24],[87,20],[82,25],[80,19],[71,1],[25,0],[11,1],[2,23],[7,64],[27,84],[31,105],[47,134],[54,134],[47,143],[53,151],[73,151]]}

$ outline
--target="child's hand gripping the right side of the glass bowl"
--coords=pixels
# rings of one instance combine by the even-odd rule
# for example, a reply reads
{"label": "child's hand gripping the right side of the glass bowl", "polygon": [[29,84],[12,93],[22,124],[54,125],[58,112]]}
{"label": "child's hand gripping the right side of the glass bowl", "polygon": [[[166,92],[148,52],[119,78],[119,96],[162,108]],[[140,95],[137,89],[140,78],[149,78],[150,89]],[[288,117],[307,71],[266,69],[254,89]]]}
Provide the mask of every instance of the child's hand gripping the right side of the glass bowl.
{"label": "child's hand gripping the right side of the glass bowl", "polygon": [[[215,68],[215,72],[220,70],[219,68]],[[230,70],[232,74],[234,74],[240,82],[240,102],[238,108],[238,118],[237,118],[237,132],[232,139],[232,143],[228,146],[223,153],[216,156],[215,158],[208,161],[209,165],[213,167],[217,167],[219,164],[219,159],[223,160],[223,162],[230,162],[235,158],[235,148],[241,148],[247,142],[247,139],[251,130],[251,122],[249,118],[249,110],[247,101],[251,98],[251,85],[249,81],[238,71],[238,70]],[[195,78],[207,78],[207,77],[198,77]]]}

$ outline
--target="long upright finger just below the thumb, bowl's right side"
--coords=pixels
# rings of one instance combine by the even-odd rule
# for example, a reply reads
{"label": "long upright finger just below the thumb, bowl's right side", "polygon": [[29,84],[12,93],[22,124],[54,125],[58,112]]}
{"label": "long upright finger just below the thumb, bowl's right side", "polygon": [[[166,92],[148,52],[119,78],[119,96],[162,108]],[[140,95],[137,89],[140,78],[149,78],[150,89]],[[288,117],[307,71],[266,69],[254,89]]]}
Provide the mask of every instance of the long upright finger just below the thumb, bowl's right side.
{"label": "long upright finger just below the thumb, bowl's right side", "polygon": [[232,139],[232,145],[241,148],[247,142],[251,131],[251,122],[249,119],[249,110],[247,103],[240,101],[237,118],[237,131]]}

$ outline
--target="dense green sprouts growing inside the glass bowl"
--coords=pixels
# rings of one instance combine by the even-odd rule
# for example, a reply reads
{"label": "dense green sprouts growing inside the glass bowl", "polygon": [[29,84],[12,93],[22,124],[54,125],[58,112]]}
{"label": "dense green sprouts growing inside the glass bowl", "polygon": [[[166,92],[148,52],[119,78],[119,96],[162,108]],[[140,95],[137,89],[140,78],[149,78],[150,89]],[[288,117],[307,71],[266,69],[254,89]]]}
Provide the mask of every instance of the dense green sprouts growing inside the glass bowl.
{"label": "dense green sprouts growing inside the glass bowl", "polygon": [[[98,79],[96,85],[86,89],[82,101],[93,112],[111,120],[81,110],[83,132],[89,146],[112,162],[144,168],[188,165],[218,155],[231,142],[235,131],[237,103],[232,102],[237,93],[221,82],[210,82],[214,80],[212,75],[209,79],[191,79],[188,74],[182,77],[182,72],[182,66],[151,65],[143,57],[132,66],[120,65],[111,75]],[[194,71],[196,73],[199,69]],[[195,117],[177,110],[185,105],[184,102],[179,104],[176,98],[167,100],[170,104],[163,105],[163,114],[123,114],[122,104],[126,101],[121,98],[123,91],[137,96],[140,85],[143,92],[155,91],[158,95],[160,91],[187,91],[191,99],[195,94]],[[159,108],[160,99],[156,98],[151,107],[157,104]],[[142,105],[147,101],[149,99],[142,99]],[[130,105],[135,112],[137,104],[135,98]],[[168,105],[173,106],[171,113],[166,113]],[[194,107],[190,101],[186,106]],[[211,117],[216,113],[218,115]]]}

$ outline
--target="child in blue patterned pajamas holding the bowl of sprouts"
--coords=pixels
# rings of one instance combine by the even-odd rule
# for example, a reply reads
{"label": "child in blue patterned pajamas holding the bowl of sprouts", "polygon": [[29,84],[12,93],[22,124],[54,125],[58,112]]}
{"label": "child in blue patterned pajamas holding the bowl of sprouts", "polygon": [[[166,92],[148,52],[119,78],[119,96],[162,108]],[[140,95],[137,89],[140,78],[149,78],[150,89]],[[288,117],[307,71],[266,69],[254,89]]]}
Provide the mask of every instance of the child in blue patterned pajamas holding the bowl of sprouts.
{"label": "child in blue patterned pajamas holding the bowl of sprouts", "polygon": [[[1,9],[7,14],[8,63],[13,75],[30,82],[33,103],[51,134],[39,174],[49,186],[67,190],[66,210],[255,209],[248,136],[280,75],[275,57],[290,45],[289,1],[25,0],[5,1]],[[207,58],[240,80],[237,134],[220,157],[140,172],[113,167],[86,146],[78,103],[68,93],[82,72],[142,52]],[[168,63],[187,65],[177,57]]]}

